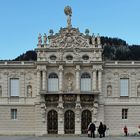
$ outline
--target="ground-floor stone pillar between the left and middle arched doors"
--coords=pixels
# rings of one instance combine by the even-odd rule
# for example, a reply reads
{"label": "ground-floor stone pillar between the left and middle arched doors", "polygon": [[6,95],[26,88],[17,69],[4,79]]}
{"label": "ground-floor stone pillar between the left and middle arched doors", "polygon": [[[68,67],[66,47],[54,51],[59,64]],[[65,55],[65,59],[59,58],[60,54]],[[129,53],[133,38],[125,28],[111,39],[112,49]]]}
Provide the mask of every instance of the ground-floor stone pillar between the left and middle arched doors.
{"label": "ground-floor stone pillar between the left and middle arched doors", "polygon": [[62,95],[59,95],[59,104],[58,108],[58,134],[64,134],[64,107]]}

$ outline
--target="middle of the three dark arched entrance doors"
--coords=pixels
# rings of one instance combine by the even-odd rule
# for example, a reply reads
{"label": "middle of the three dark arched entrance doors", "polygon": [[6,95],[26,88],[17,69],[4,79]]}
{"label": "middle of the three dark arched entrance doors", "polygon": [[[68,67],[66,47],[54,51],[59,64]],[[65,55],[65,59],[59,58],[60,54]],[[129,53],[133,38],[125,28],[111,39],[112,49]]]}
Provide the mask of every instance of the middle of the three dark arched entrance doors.
{"label": "middle of the three dark arched entrance doors", "polygon": [[65,134],[74,134],[75,132],[75,115],[71,110],[65,112],[64,129]]}

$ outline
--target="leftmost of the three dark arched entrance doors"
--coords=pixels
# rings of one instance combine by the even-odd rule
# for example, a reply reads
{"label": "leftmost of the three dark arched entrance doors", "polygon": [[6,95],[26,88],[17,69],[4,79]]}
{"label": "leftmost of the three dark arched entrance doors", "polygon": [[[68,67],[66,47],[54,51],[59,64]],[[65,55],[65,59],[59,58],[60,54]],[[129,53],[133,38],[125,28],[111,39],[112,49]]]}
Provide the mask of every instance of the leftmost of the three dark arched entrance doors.
{"label": "leftmost of the three dark arched entrance doors", "polygon": [[57,134],[58,132],[58,115],[55,110],[48,112],[47,117],[48,134]]}

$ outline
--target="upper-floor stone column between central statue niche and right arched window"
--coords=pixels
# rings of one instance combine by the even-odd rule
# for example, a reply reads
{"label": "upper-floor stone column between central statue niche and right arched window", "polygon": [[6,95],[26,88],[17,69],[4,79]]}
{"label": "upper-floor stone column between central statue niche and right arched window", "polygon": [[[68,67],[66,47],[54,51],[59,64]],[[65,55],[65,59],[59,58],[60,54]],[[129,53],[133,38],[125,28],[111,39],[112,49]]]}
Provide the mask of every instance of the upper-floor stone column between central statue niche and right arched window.
{"label": "upper-floor stone column between central statue niche and right arched window", "polygon": [[80,65],[76,65],[76,92],[80,92]]}

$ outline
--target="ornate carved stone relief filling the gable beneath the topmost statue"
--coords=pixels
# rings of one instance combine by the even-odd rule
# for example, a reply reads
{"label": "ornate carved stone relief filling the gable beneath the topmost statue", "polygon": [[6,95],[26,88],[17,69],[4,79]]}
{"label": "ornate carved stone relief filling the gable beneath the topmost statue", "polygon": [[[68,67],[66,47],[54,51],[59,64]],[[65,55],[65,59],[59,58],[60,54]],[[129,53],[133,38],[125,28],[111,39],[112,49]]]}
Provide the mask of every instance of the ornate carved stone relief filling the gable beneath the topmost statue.
{"label": "ornate carved stone relief filling the gable beneath the topmost statue", "polygon": [[89,40],[78,29],[61,28],[58,34],[49,36],[50,47],[89,47]]}

